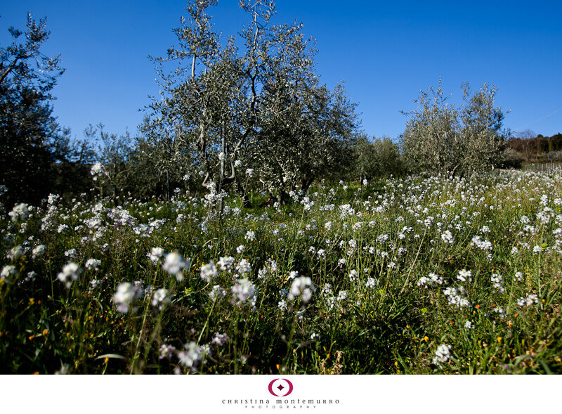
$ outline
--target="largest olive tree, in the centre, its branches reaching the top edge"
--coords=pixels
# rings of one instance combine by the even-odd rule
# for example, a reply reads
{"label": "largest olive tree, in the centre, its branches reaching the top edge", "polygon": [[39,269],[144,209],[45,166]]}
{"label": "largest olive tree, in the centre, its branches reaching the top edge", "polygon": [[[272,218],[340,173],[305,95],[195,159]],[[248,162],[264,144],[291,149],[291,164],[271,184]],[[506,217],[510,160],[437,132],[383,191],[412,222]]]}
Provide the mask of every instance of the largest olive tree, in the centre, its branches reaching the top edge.
{"label": "largest olive tree, in the centre, its branches reaching the top edge", "polygon": [[[148,135],[167,143],[166,162],[181,162],[213,191],[246,195],[248,183],[271,195],[306,190],[346,153],[354,106],[341,87],[319,84],[302,25],[272,24],[273,1],[240,1],[249,22],[240,42],[225,46],[207,13],[215,5],[190,1],[189,18],[175,31],[178,46],[155,59],[162,99],[152,104]],[[172,61],[176,70],[166,69]]]}

